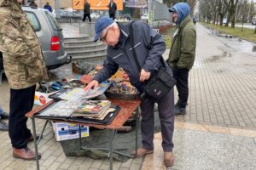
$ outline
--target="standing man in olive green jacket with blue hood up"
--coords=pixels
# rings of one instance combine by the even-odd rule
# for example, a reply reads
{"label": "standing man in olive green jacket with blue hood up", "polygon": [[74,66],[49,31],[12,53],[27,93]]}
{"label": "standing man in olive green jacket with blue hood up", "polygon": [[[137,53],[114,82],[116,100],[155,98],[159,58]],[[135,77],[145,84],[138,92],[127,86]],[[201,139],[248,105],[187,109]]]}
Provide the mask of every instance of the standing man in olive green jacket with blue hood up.
{"label": "standing man in olive green jacket with blue hood up", "polygon": [[172,68],[177,84],[178,100],[175,115],[185,115],[189,98],[189,70],[195,60],[196,31],[191,20],[188,3],[177,3],[169,9],[177,30],[172,38],[172,47],[167,63]]}

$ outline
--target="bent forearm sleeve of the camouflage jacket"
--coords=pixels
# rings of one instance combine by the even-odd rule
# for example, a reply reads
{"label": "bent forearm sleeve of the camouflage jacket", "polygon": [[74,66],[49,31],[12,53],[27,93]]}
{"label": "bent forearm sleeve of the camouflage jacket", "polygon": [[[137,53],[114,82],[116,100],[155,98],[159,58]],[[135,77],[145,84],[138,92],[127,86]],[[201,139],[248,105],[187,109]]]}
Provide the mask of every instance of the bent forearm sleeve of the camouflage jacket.
{"label": "bent forearm sleeve of the camouflage jacket", "polygon": [[25,65],[34,66],[37,64],[37,57],[23,41],[20,31],[14,23],[7,22],[0,30],[0,34],[3,48],[5,48],[4,51],[9,55],[10,59],[13,58]]}

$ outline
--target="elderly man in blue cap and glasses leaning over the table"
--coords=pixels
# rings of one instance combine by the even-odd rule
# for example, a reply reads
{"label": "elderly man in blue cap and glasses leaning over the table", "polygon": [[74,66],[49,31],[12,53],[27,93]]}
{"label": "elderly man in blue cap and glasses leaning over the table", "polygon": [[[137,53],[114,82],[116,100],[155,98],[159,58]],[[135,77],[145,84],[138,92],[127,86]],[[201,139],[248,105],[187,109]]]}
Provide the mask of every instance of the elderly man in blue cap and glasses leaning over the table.
{"label": "elderly man in blue cap and glasses leaning over the table", "polygon": [[[143,93],[144,82],[154,74],[160,67],[172,75],[172,70],[162,59],[166,50],[166,44],[154,29],[150,28],[143,21],[129,22],[125,25],[113,22],[112,19],[102,17],[96,21],[96,36],[94,41],[100,39],[108,44],[107,59],[103,68],[93,80],[85,87],[85,91],[96,88],[99,83],[107,80],[118,69],[122,67],[128,74],[131,84]],[[133,42],[131,38],[133,37]],[[137,68],[134,53],[137,54],[137,61],[141,70]],[[137,156],[151,154],[154,151],[154,104],[158,104],[160,125],[162,133],[162,148],[164,150],[164,161],[166,166],[172,166],[174,156],[172,154],[172,134],[174,129],[174,95],[173,89],[165,97],[156,100],[146,96],[141,102],[141,132],[143,147],[137,150]]]}

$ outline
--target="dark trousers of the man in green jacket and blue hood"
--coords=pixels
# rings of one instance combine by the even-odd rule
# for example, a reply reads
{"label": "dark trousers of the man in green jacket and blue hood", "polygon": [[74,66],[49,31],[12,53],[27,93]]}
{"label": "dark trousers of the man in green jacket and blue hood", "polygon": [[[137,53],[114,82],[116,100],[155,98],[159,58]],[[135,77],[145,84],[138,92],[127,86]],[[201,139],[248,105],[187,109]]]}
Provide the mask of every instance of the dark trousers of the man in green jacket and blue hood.
{"label": "dark trousers of the man in green jacket and blue hood", "polygon": [[189,69],[172,69],[173,77],[176,79],[179,107],[185,108],[189,98]]}

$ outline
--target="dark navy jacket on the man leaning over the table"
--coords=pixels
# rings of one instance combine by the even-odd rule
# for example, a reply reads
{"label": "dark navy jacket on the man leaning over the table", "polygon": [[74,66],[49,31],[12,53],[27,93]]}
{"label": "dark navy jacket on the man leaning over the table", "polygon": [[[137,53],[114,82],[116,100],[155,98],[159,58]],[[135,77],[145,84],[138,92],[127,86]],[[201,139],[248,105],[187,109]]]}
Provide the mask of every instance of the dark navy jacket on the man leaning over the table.
{"label": "dark navy jacket on the man leaning over the table", "polygon": [[[131,32],[129,29],[131,22],[125,25],[118,23],[118,25],[124,40],[117,47],[108,46],[107,59],[104,60],[103,68],[93,79],[101,83],[111,77],[120,66],[129,75],[131,84],[142,92],[144,85],[143,82],[139,81],[140,71],[137,69],[132,50],[136,51],[137,60],[141,67],[153,74],[160,68],[160,59],[166,50],[166,43],[163,37],[143,21],[135,21],[132,26],[134,44],[131,47]],[[172,75],[170,67],[166,62],[164,63],[167,71]]]}

